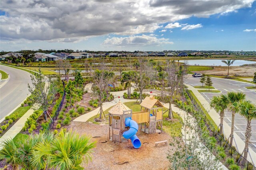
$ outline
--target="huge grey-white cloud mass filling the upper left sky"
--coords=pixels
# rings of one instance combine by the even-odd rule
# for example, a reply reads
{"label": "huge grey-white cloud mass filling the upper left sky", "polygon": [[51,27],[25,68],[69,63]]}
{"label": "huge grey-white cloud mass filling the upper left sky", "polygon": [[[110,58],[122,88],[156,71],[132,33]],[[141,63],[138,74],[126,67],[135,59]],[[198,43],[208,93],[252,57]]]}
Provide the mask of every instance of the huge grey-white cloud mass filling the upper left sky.
{"label": "huge grey-white cloud mass filling the upper left sky", "polygon": [[254,0],[1,1],[1,11],[6,15],[0,16],[0,40],[77,42],[81,38],[107,34],[123,36],[152,33],[163,28],[164,23],[170,23],[165,28],[183,27],[183,30],[189,30],[193,29],[193,25],[186,26],[175,21],[192,16],[226,14],[251,7],[253,2]]}

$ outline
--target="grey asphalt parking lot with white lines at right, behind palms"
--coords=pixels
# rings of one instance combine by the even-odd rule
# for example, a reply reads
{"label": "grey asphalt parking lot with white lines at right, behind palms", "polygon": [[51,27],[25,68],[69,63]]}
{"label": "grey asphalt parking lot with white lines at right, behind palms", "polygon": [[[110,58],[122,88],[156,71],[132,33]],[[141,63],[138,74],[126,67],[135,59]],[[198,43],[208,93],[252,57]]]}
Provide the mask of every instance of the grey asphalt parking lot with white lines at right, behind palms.
{"label": "grey asphalt parking lot with white lines at right, behind palms", "polygon": [[[252,91],[249,89],[246,89],[247,86],[253,86],[247,83],[238,82],[238,81],[232,81],[228,79],[219,79],[212,77],[213,87],[220,90],[221,93],[201,93],[202,96],[210,103],[213,96],[226,94],[229,91],[234,92],[242,92],[246,94],[246,99],[250,100],[252,103],[256,104],[256,91]],[[200,83],[200,77],[189,77],[186,80],[186,83],[192,86],[201,86],[202,83]],[[232,114],[230,111],[225,111],[225,118],[224,121],[231,126],[231,120],[232,120]],[[234,126],[234,132],[238,134],[238,136],[245,141],[245,130],[246,130],[247,121],[244,117],[240,116],[239,114],[236,114],[235,117],[235,126]],[[252,136],[250,138],[250,141],[252,144],[249,144],[250,147],[256,152],[256,120],[252,120]],[[224,127],[225,128],[225,127]]]}

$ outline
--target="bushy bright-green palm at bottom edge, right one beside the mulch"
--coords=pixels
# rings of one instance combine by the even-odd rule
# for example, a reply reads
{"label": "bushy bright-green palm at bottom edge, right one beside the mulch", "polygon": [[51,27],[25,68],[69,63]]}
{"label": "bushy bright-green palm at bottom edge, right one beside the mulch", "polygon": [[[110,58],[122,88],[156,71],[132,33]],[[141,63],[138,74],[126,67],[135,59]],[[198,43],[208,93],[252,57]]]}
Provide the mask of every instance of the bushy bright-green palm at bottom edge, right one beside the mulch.
{"label": "bushy bright-green palm at bottom edge, right one beside the mulch", "polygon": [[80,165],[91,160],[94,147],[87,136],[60,130],[52,142],[39,142],[34,147],[31,164],[60,170],[83,169]]}

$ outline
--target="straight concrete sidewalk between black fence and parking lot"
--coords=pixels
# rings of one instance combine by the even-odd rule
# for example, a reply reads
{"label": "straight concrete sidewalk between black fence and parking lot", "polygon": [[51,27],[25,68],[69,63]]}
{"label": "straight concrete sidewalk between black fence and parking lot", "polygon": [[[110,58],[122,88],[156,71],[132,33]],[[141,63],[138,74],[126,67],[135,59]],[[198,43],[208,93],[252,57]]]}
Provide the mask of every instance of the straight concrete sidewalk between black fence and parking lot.
{"label": "straight concrete sidewalk between black fence and parking lot", "polygon": [[[219,114],[214,109],[210,108],[210,104],[198,92],[198,89],[195,89],[194,87],[192,87],[191,85],[188,85],[188,84],[186,84],[186,86],[188,87],[188,90],[191,90],[194,93],[196,98],[200,101],[200,103],[203,105],[204,109],[208,112],[208,114],[210,115],[212,120],[218,126],[220,124]],[[224,127],[224,135],[225,135],[226,138],[228,138],[228,136],[230,135],[230,132],[231,132],[231,127],[225,121],[223,123],[223,127]],[[237,144],[237,147],[238,147],[238,151],[241,154],[242,151],[244,150],[245,142],[236,134],[236,132],[234,132],[234,138],[236,139],[236,144]],[[233,142],[233,146],[235,146],[235,142]],[[250,147],[249,147],[249,151],[250,151],[250,154],[252,156],[252,159],[254,160],[254,163],[256,163],[255,162],[256,153]],[[247,159],[248,159],[248,161],[252,162],[250,156],[248,156]]]}

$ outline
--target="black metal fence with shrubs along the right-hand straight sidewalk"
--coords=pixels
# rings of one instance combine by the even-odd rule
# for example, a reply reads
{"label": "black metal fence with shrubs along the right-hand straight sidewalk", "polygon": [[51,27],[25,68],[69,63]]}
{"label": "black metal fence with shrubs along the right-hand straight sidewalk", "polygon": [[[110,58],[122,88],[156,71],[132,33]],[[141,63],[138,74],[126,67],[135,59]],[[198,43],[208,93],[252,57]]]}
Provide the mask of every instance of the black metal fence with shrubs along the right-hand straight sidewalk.
{"label": "black metal fence with shrubs along the right-hand straight sidewalk", "polygon": [[[188,91],[188,89],[186,88],[186,93],[188,94],[188,97],[190,98],[190,100],[192,101],[192,104],[198,108],[200,110],[200,112],[202,114],[204,114],[204,111],[202,110],[202,108],[198,105],[198,103],[195,101],[194,97],[190,94],[190,91]],[[236,162],[236,164],[238,166],[240,166],[241,169],[243,170],[256,170],[256,167],[251,164],[248,160],[246,160],[235,148],[234,146],[232,147],[229,143],[228,140],[225,140],[225,137],[223,135],[221,135],[218,132],[218,129],[216,129],[214,127],[214,125],[212,125],[212,123],[210,122],[210,120],[207,119],[206,115],[204,114],[204,123],[207,125],[208,130],[210,131],[210,136],[214,136],[214,138],[217,141],[217,144],[219,146],[224,147],[224,152],[226,154],[226,159],[227,158],[233,158],[234,162]],[[226,166],[228,166],[228,164],[226,164],[226,162],[222,162],[224,163]]]}

